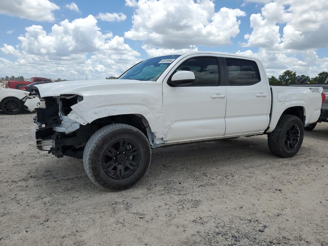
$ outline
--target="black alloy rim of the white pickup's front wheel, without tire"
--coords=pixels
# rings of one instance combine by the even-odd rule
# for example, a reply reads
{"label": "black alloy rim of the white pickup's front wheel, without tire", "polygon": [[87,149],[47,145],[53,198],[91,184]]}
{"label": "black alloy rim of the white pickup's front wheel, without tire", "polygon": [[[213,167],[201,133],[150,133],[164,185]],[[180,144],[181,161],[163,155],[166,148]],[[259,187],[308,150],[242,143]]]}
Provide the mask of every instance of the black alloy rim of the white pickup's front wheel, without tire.
{"label": "black alloy rim of the white pickup's front wheel, without tire", "polygon": [[132,139],[114,140],[104,150],[101,164],[105,174],[110,178],[129,178],[140,166],[140,146]]}

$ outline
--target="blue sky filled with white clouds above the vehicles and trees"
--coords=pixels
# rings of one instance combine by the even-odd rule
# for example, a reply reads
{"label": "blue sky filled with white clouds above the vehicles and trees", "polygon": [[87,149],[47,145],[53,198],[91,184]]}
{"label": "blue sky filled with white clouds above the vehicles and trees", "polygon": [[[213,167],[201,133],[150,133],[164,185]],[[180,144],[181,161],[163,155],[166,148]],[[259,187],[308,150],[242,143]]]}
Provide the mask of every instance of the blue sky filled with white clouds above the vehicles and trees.
{"label": "blue sky filled with white clouds above the vehicles and trees", "polygon": [[1,0],[0,23],[0,77],[105,78],[196,50],[328,71],[327,0]]}

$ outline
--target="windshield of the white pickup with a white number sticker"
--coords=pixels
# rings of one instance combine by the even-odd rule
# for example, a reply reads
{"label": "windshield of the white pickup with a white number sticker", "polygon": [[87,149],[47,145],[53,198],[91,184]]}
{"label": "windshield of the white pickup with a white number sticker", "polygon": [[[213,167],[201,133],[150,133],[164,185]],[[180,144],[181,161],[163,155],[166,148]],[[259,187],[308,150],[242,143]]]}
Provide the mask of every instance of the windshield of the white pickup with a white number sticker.
{"label": "windshield of the white pickup with a white number sticker", "polygon": [[164,55],[144,60],[123,73],[118,79],[156,81],[162,72],[179,56]]}

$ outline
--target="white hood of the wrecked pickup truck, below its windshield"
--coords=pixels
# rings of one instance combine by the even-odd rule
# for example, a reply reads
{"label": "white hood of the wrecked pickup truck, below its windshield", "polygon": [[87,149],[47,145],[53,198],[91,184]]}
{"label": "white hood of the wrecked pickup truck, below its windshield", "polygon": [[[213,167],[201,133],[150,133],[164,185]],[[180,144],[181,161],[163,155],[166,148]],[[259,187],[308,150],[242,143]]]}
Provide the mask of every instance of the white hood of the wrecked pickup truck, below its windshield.
{"label": "white hood of the wrecked pickup truck, below its windshield", "polygon": [[92,95],[103,94],[106,91],[131,91],[135,86],[159,83],[155,81],[140,81],[132,79],[102,79],[102,80],[72,80],[34,85],[41,97],[59,96],[62,94]]}

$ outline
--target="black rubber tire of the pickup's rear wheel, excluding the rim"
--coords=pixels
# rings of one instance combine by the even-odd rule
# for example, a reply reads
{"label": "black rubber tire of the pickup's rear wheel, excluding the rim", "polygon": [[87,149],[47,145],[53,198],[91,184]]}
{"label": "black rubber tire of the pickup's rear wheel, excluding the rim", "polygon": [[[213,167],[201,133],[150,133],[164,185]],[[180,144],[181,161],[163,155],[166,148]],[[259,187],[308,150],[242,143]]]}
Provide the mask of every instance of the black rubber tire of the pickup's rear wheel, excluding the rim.
{"label": "black rubber tire of the pickup's rear wheel, excluding the rim", "polygon": [[[285,145],[286,132],[292,125],[297,125],[299,129],[299,140],[294,149],[288,150]],[[292,157],[297,154],[302,145],[304,137],[304,126],[300,118],[290,114],[281,115],[275,130],[268,135],[268,144],[271,153],[280,157]]]}

